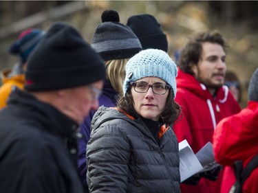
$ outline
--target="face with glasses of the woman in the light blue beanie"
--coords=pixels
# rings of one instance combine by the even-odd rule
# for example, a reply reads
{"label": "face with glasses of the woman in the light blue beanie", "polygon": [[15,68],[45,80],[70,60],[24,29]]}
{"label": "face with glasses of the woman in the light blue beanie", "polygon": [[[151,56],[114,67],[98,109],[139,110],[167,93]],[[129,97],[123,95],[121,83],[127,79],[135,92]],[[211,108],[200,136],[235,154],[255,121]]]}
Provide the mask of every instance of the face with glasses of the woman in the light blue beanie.
{"label": "face with glasses of the woman in the light blue beanie", "polygon": [[[142,78],[136,82],[138,83],[131,87],[134,109],[142,117],[158,121],[161,113],[165,109],[166,98],[169,95],[169,90],[164,90],[166,82],[156,77]],[[151,89],[148,84],[154,84],[155,86]],[[137,91],[142,91],[142,93]],[[164,94],[155,94],[153,91]]]}

